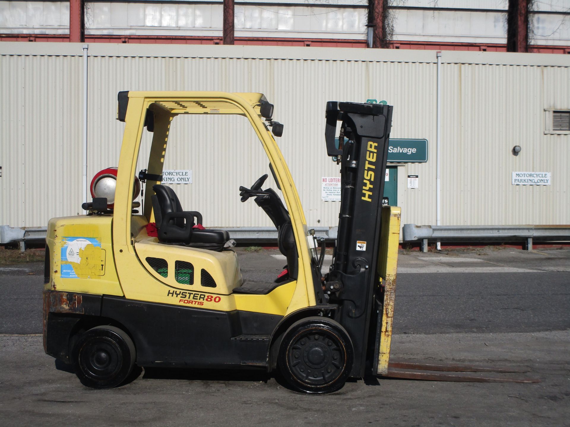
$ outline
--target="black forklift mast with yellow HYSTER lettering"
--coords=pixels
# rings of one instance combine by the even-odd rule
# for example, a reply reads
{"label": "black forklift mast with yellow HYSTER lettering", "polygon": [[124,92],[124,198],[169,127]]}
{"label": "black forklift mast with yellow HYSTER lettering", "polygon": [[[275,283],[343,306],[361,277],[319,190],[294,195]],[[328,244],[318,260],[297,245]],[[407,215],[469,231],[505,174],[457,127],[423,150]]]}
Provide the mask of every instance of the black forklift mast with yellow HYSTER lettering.
{"label": "black forklift mast with yellow HYSTER lettering", "polygon": [[[370,325],[370,317],[374,295],[381,301],[378,250],[392,108],[327,102],[327,153],[341,165],[338,237],[327,288],[339,289],[331,294],[330,302],[339,303],[337,320],[352,338],[355,358],[351,376],[364,376],[366,356],[372,359],[374,353],[370,347],[376,334],[370,328],[376,331],[378,316],[374,315],[374,325]],[[337,121],[341,122],[338,146]]]}

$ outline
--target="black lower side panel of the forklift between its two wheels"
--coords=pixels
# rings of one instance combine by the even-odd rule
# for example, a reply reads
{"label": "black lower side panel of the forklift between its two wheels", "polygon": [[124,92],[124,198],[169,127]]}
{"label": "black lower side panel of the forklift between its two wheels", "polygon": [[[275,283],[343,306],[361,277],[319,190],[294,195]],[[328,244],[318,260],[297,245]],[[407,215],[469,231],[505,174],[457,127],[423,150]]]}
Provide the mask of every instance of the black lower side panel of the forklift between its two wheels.
{"label": "black lower side panel of the forklift between its two wheels", "polygon": [[[268,337],[282,318],[111,296],[103,297],[101,316],[131,334],[139,366],[189,368],[266,367]],[[248,335],[259,339],[241,338]]]}

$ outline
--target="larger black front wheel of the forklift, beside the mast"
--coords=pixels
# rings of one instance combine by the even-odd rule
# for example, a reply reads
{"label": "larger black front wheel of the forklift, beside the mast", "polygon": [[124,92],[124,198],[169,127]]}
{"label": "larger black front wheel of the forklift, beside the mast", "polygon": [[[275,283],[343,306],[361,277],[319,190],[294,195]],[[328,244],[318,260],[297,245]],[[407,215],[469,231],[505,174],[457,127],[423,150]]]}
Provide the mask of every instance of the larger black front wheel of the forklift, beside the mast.
{"label": "larger black front wheel of the forklift, beside the mast", "polygon": [[311,317],[295,322],[283,335],[278,363],[297,391],[332,393],[343,387],[354,351],[347,331],[332,319]]}

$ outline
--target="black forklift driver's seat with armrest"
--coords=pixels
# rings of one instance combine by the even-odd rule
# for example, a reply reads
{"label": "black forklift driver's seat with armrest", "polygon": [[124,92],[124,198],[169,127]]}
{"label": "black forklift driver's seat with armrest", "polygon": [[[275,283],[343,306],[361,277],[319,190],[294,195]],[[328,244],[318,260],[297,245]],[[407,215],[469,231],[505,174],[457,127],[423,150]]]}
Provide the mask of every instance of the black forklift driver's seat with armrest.
{"label": "black forklift driver's seat with armrest", "polygon": [[185,245],[194,248],[221,251],[230,234],[225,230],[193,228],[202,223],[202,215],[196,211],[184,211],[172,188],[156,184],[152,186],[154,219],[158,229],[158,240],[162,243]]}

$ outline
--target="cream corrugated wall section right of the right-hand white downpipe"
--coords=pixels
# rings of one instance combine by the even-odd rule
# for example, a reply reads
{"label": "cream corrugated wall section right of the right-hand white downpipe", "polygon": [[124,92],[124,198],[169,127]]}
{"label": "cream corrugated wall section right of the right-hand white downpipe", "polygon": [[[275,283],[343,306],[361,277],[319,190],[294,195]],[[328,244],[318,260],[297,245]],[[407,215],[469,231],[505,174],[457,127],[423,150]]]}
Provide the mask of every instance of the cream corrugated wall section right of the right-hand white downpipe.
{"label": "cream corrugated wall section right of the right-hand white downpipe", "polygon": [[[570,137],[544,135],[544,108],[570,109],[568,68],[442,68],[442,224],[570,223]],[[552,185],[514,186],[512,171]]]}

